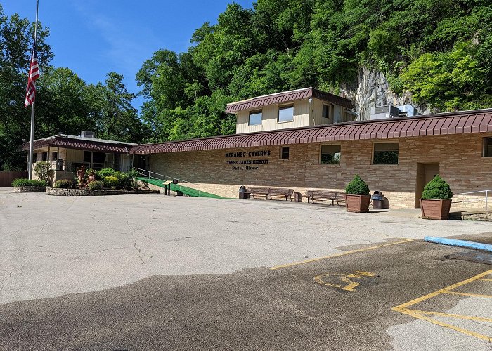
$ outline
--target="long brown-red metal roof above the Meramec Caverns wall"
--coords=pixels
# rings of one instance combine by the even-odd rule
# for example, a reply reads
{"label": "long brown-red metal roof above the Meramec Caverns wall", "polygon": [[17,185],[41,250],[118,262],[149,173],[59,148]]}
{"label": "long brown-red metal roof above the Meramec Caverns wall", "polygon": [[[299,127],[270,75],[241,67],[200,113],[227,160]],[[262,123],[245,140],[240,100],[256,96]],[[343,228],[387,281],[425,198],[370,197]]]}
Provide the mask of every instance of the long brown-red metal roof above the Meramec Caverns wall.
{"label": "long brown-red metal roof above the Meramec Caverns wall", "polygon": [[377,119],[135,146],[131,154],[492,132],[492,109]]}

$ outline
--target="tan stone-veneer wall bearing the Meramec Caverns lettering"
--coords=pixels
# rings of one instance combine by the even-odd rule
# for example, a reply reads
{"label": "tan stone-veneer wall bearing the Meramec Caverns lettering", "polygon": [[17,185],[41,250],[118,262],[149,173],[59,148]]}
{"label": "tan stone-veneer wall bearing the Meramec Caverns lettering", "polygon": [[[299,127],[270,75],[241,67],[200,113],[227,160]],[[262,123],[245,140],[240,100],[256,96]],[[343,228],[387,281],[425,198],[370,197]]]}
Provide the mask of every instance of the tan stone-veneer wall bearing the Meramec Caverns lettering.
{"label": "tan stone-veneer wall bearing the Meramec Caverns lettering", "polygon": [[[290,158],[280,159],[280,146],[152,154],[150,170],[200,183],[202,190],[224,197],[238,197],[240,185],[344,190],[358,173],[371,192],[380,190],[391,208],[414,208],[417,163],[439,163],[440,175],[454,193],[492,189],[492,157],[481,157],[482,140],[492,133],[422,136],[384,140],[349,140],[331,143],[284,145]],[[398,165],[373,165],[373,143],[399,142]],[[319,164],[321,145],[341,145],[339,165]],[[229,152],[270,151],[270,156],[226,157]],[[265,160],[268,164],[231,165],[226,161]],[[242,170],[233,170],[233,166]],[[246,166],[257,170],[246,170]],[[462,197],[455,208],[482,206],[484,196]],[[306,201],[306,200],[304,200]]]}

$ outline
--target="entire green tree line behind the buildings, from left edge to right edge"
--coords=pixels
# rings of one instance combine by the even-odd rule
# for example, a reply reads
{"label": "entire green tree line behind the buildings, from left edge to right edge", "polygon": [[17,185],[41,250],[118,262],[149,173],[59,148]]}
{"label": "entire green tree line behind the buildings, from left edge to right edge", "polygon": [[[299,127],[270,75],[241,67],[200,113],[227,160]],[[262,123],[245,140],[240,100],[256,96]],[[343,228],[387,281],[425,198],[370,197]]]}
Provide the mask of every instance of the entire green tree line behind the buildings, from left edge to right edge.
{"label": "entire green tree line behind the buildings, from left edge to right edge", "polygon": [[[0,169],[25,167],[23,107],[33,25],[0,5]],[[492,106],[489,0],[258,0],[230,4],[206,22],[184,53],[166,48],[136,74],[145,102],[138,116],[121,74],[86,84],[51,67],[49,31],[38,38],[35,138],[60,131],[152,142],[234,133],[226,103],[315,86],[353,89],[361,68],[384,72],[394,92],[432,110]]]}

